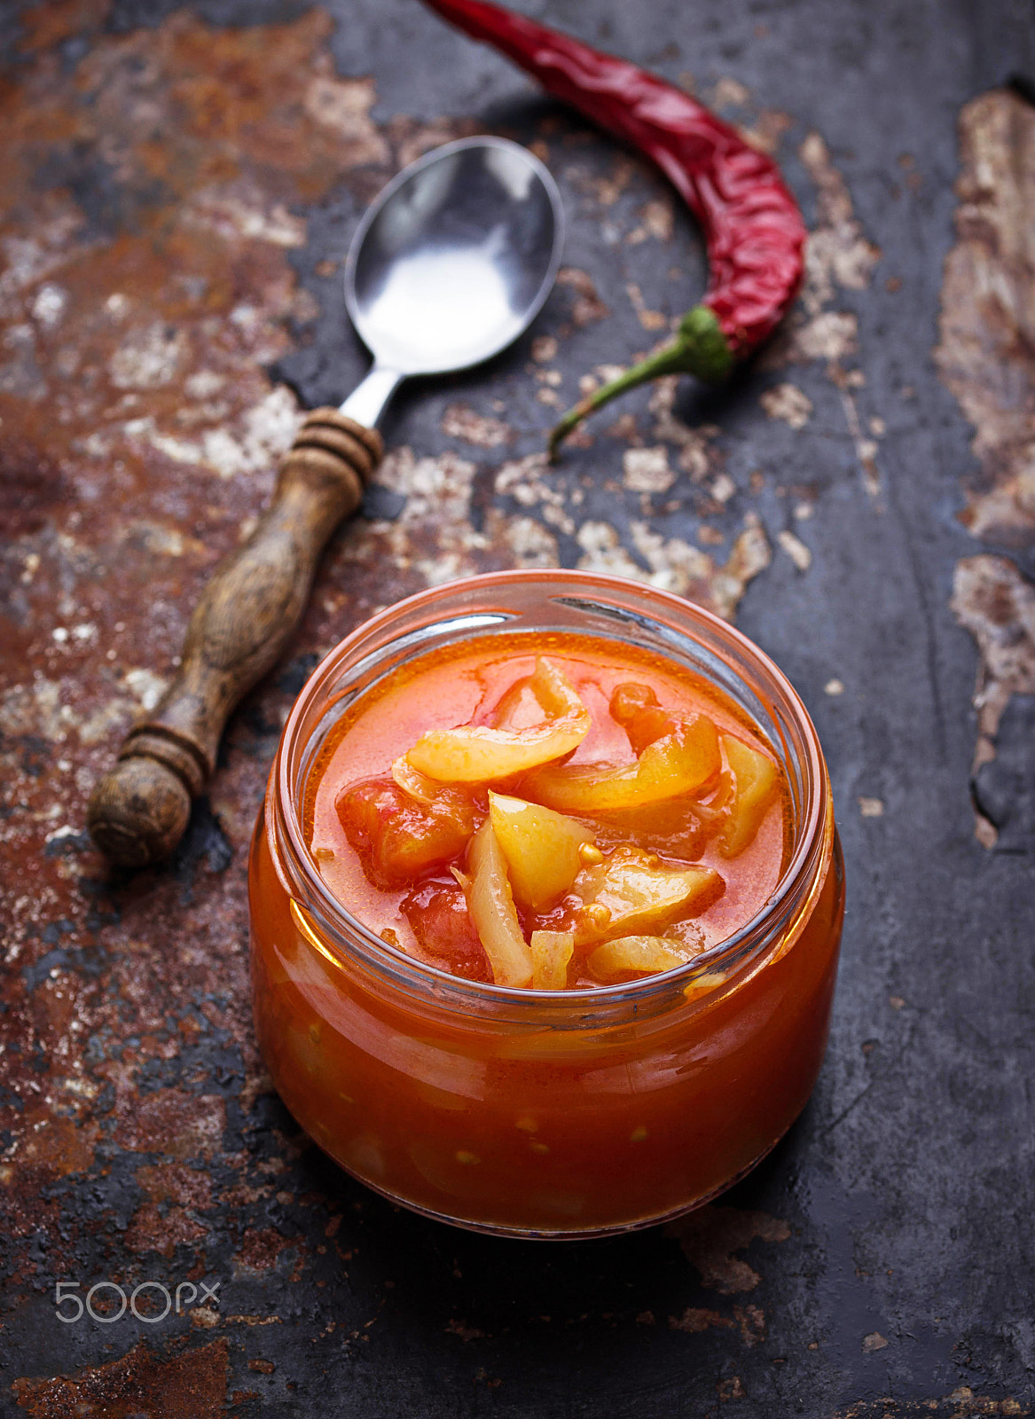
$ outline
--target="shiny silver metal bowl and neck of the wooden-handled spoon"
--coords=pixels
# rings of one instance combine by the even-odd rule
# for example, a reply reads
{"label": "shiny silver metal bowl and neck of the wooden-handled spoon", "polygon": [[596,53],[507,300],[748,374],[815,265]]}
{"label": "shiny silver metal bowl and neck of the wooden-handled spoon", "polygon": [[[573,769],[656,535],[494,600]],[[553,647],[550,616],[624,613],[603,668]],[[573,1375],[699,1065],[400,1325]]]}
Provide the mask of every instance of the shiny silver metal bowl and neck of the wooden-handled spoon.
{"label": "shiny silver metal bowl and neck of the wooden-handled spoon", "polygon": [[554,179],[504,138],[446,143],[399,173],[345,264],[345,301],[373,366],[341,413],[372,427],[402,379],[505,349],[547,299],[562,236]]}

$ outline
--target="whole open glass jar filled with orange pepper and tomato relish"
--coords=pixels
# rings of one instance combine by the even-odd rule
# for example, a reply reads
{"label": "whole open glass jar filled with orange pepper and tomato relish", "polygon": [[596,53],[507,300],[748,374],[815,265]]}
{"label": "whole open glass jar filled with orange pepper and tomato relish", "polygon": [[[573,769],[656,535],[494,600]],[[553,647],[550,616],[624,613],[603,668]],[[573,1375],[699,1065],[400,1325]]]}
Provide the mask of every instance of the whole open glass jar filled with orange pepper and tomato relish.
{"label": "whole open glass jar filled with orange pepper and tomato relish", "polygon": [[281,1098],[440,1220],[677,1216],[819,1071],[845,891],[815,729],[650,586],[501,572],[359,627],[284,728],[248,885]]}

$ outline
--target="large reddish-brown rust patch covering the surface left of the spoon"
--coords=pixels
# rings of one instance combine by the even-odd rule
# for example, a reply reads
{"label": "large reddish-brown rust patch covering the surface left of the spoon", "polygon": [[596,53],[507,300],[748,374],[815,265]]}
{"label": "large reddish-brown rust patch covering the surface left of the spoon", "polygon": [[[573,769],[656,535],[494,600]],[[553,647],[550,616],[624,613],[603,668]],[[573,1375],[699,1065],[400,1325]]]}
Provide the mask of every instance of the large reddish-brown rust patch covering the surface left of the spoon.
{"label": "large reddish-brown rust patch covering the surface left of the spoon", "polygon": [[[177,1077],[165,1063],[221,1032],[241,1110],[268,1087],[244,874],[223,871],[254,822],[265,731],[241,725],[246,752],[163,871],[109,881],[85,799],[160,695],[204,576],[247,535],[294,436],[295,399],[264,366],[315,314],[288,260],[307,240],[297,211],[342,183],[363,200],[403,146],[464,128],[378,128],[373,82],[335,74],[319,10],[239,28],[182,10],[104,35],[106,13],[26,11],[31,57],[0,89],[0,1206],[9,1237],[48,1233],[48,1264],[62,1212],[41,1189],[95,1169],[102,1138],[166,1159],[138,1169],[136,1252],[202,1240],[212,1196],[183,1159],[247,1166],[224,1152],[223,1080],[202,1066],[183,1087],[141,1084]],[[89,37],[78,61],[54,51],[74,34]],[[341,603],[314,607],[318,644],[339,634]],[[263,712],[280,714],[291,691],[267,692]],[[241,1209],[263,1196],[224,1191]]]}

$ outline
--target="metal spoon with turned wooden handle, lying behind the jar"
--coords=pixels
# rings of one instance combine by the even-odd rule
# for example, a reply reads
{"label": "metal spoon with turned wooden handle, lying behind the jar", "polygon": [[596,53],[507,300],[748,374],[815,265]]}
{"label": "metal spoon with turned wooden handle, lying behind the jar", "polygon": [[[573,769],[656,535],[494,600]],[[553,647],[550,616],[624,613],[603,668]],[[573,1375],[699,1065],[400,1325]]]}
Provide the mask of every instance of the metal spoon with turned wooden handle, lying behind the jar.
{"label": "metal spoon with turned wooden handle, lying behind the jar", "polygon": [[278,660],[319,553],[362,501],[383,451],[376,424],[400,380],[466,369],[510,345],[549,294],[562,228],[552,177],[503,138],[427,153],[366,213],[345,299],[373,366],[339,409],[305,417],[273,502],[195,607],[176,678],[94,789],[87,824],[112,861],[141,867],[179,843],[230,711]]}

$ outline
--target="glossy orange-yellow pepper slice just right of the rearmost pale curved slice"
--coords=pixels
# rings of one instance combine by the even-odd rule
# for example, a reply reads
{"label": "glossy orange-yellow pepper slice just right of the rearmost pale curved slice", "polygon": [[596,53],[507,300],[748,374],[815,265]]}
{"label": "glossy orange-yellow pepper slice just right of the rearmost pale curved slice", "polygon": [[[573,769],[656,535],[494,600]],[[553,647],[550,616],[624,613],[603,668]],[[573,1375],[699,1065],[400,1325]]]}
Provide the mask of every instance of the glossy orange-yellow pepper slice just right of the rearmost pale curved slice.
{"label": "glossy orange-yellow pepper slice just right of the rearmost pale curved slice", "polygon": [[551,763],[521,785],[527,797],[559,813],[609,813],[699,793],[718,775],[718,732],[707,715],[687,715],[649,744],[635,763]]}

